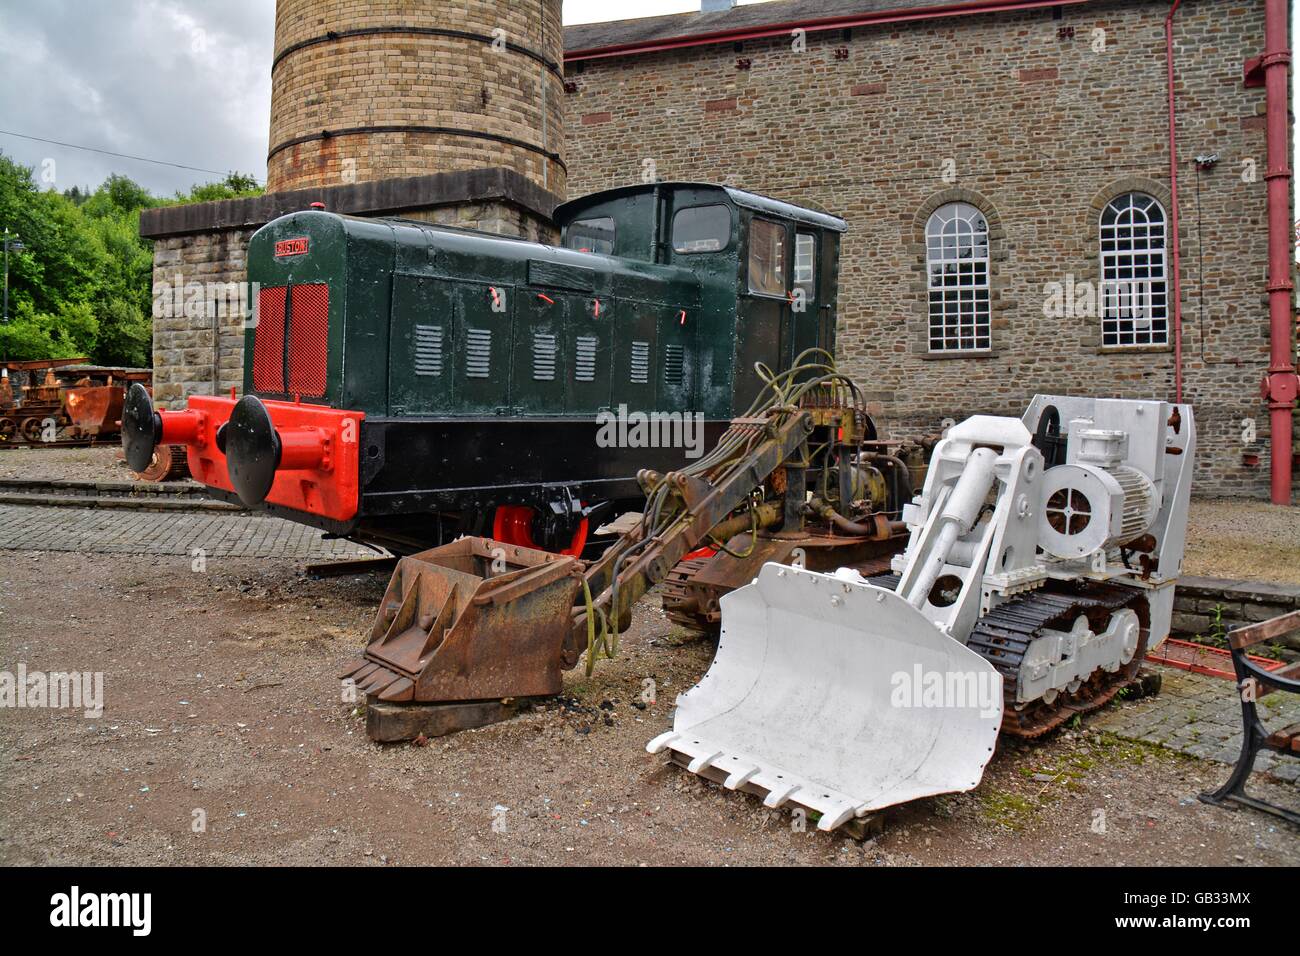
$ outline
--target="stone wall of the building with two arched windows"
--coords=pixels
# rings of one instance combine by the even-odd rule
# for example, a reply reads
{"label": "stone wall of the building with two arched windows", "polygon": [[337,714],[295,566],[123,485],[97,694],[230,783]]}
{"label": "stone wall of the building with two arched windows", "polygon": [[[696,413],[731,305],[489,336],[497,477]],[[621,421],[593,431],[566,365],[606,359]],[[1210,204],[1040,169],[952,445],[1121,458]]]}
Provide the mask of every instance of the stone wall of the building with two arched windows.
{"label": "stone wall of the building with two arched windows", "polygon": [[[569,194],[638,181],[654,160],[663,179],[723,181],[848,219],[840,359],[894,434],[1018,415],[1035,392],[1171,397],[1171,347],[1108,351],[1096,319],[1044,313],[1048,282],[1097,280],[1109,199],[1138,189],[1169,208],[1167,10],[1100,3],[1060,18],[810,34],[802,53],[776,38],[569,64]],[[1242,83],[1262,46],[1262,4],[1199,0],[1178,13],[1184,394],[1201,494],[1268,492],[1264,90]],[[1197,176],[1202,153],[1221,161]],[[927,352],[923,229],[950,200],[975,203],[991,226],[988,356]]]}

